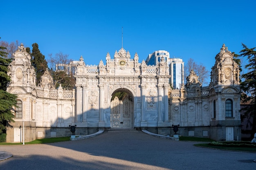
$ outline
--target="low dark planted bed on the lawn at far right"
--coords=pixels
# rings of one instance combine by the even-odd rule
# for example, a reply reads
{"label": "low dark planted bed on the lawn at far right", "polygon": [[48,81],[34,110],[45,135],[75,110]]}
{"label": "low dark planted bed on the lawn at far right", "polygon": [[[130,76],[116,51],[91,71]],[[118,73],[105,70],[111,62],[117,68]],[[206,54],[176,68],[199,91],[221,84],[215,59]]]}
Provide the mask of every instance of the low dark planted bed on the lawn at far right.
{"label": "low dark planted bed on the lawn at far right", "polygon": [[209,145],[225,146],[225,147],[256,148],[256,143],[251,143],[249,141],[213,141]]}

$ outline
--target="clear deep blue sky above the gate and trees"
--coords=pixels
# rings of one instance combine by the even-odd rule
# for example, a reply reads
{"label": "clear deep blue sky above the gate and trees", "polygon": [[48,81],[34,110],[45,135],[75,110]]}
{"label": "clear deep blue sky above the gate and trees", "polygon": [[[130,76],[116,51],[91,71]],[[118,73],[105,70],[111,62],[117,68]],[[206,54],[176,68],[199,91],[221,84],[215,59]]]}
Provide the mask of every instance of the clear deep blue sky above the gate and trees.
{"label": "clear deep blue sky above the gate and trees", "polygon": [[256,0],[4,0],[0,40],[33,43],[49,53],[83,55],[86,64],[106,63],[123,46],[139,62],[166,50],[210,71],[222,44],[239,53],[256,47]]}

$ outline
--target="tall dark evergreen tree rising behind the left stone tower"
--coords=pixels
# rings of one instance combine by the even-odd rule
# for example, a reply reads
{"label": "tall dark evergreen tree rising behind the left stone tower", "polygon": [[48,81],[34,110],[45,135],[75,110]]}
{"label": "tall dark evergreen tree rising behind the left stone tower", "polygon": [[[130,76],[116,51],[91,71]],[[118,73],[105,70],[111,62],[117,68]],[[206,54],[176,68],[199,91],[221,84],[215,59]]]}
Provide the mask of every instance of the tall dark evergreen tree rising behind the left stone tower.
{"label": "tall dark evergreen tree rising behind the left stone tower", "polygon": [[[32,53],[31,53],[31,65],[34,66],[36,70],[36,85],[40,82],[41,76],[48,69],[47,61],[45,60],[45,56],[38,49],[38,44],[32,44]],[[27,49],[26,49],[27,51]]]}

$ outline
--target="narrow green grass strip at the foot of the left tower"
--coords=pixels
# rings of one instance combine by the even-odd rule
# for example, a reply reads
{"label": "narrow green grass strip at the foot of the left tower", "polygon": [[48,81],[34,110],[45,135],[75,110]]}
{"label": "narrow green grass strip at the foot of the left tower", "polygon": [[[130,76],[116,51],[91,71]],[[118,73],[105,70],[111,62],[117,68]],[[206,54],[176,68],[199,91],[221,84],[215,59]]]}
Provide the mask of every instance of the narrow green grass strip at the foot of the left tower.
{"label": "narrow green grass strip at the foot of the left tower", "polygon": [[[25,144],[48,144],[60,141],[70,141],[70,137],[53,137],[45,139],[36,139],[31,142],[25,142]],[[22,145],[23,143],[0,143],[0,145]]]}

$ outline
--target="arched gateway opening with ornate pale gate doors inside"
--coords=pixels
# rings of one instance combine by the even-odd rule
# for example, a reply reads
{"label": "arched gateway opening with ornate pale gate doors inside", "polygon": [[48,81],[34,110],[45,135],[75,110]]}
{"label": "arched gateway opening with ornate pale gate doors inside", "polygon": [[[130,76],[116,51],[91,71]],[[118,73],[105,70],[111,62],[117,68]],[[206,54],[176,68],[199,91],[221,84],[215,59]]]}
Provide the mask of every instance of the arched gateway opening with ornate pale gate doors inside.
{"label": "arched gateway opening with ornate pale gate doors inside", "polygon": [[133,128],[134,98],[127,89],[117,89],[111,96],[111,128]]}

